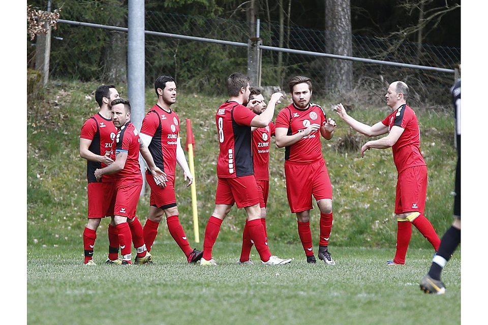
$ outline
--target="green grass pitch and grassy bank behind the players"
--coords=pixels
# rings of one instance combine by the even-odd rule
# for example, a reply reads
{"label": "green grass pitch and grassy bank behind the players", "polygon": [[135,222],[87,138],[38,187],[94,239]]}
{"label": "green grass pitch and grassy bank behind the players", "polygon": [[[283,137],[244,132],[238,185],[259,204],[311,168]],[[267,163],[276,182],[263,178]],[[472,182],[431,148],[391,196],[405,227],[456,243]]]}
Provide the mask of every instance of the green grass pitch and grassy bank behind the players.
{"label": "green grass pitch and grassy bank behind the players", "polygon": [[[432,259],[430,244],[414,230],[404,267],[386,267],[394,254],[393,217],[396,170],[391,150],[370,150],[360,158],[357,145],[367,139],[341,120],[323,154],[333,185],[334,224],[331,252],[337,265],[306,264],[285,191],[282,149],[270,152],[267,230],[270,248],[293,257],[283,267],[236,265],[244,212],[235,207],[224,221],[214,249],[219,266],[188,265],[165,226],[160,227],[150,266],[120,269],[104,265],[107,222],[97,234],[93,268],[81,265],[81,234],[86,224],[86,163],[79,157],[79,131],[97,112],[98,84],[53,82],[42,98],[27,105],[27,322],[32,324],[459,324],[461,253],[443,273],[444,296],[421,293],[418,281]],[[127,89],[118,87],[122,96]],[[225,100],[204,94],[178,93],[174,110],[181,129],[192,119],[200,243],[214,208],[217,156],[215,109]],[[155,102],[146,91],[146,111]],[[315,102],[315,100],[314,100]],[[328,116],[332,104],[321,104]],[[421,149],[429,168],[425,215],[439,235],[451,223],[453,118],[450,110],[414,108],[421,128]],[[278,111],[277,111],[278,112]],[[373,124],[388,110],[356,105],[350,114]],[[186,140],[183,133],[182,141]],[[179,170],[178,170],[179,171]],[[176,175],[180,220],[193,237],[190,190]],[[144,224],[148,192],[137,214]],[[311,212],[312,234],[319,214]],[[316,237],[314,237],[316,239]],[[317,246],[315,246],[317,249]],[[255,261],[259,261],[256,252]]]}

